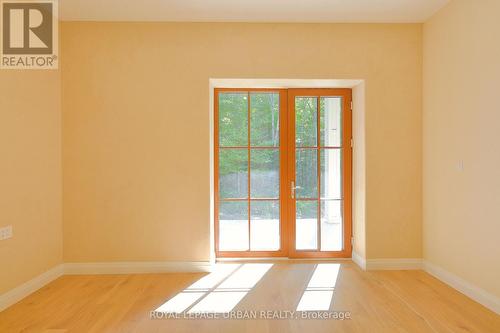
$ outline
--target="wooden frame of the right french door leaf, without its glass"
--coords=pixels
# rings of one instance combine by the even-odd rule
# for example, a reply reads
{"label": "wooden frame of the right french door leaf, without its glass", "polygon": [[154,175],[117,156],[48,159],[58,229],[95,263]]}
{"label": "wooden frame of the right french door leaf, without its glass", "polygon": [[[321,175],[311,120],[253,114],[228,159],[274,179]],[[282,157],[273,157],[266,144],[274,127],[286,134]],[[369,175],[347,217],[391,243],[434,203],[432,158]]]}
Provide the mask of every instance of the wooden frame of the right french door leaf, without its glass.
{"label": "wooden frame of the right french door leaf, without its glass", "polygon": [[[352,89],[347,88],[293,88],[288,89],[288,186],[295,179],[295,97],[342,97],[342,193],[343,193],[343,249],[342,251],[295,250],[295,199],[288,200],[290,258],[350,258],[352,255]],[[319,103],[319,101],[318,101]],[[319,145],[320,109],[317,110],[317,140]],[[319,164],[318,155],[318,164]],[[320,191],[320,172],[318,191]],[[318,203],[319,204],[319,203]],[[318,216],[318,219],[320,216]],[[319,232],[319,230],[318,230]],[[320,243],[318,243],[318,248]]]}

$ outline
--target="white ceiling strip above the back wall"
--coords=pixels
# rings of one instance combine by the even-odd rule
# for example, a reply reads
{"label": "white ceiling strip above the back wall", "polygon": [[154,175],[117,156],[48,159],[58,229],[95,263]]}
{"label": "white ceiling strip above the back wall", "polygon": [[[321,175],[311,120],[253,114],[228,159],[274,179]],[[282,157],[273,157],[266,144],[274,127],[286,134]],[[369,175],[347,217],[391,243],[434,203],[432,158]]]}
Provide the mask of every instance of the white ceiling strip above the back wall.
{"label": "white ceiling strip above the back wall", "polygon": [[449,0],[60,0],[65,21],[424,22]]}

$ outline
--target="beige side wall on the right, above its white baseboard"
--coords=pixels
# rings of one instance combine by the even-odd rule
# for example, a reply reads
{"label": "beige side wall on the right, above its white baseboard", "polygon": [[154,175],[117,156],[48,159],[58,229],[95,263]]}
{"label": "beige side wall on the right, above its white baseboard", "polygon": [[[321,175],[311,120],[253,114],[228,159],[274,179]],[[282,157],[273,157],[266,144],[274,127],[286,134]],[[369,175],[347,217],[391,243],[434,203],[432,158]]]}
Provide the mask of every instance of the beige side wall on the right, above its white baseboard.
{"label": "beige side wall on the right, above its white baseboard", "polygon": [[[500,2],[424,27],[424,256],[500,296]],[[463,161],[463,170],[459,166]]]}

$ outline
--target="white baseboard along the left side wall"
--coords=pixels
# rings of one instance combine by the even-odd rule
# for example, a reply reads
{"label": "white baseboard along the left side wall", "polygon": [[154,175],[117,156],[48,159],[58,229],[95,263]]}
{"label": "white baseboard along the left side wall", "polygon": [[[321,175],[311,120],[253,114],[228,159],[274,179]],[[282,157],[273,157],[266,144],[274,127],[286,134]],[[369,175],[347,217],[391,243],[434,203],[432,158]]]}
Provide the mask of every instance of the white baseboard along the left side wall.
{"label": "white baseboard along the left side wall", "polygon": [[9,306],[19,302],[26,296],[34,293],[46,284],[54,281],[64,274],[63,265],[57,265],[54,268],[34,277],[33,279],[23,283],[22,285],[0,295],[0,311],[5,310]]}

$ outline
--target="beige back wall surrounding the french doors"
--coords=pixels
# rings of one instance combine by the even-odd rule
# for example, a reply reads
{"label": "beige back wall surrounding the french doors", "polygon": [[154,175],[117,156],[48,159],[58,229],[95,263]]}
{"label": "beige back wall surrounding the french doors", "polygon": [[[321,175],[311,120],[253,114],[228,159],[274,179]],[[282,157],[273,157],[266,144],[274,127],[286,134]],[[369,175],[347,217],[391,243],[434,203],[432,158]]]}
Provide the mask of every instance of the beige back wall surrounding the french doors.
{"label": "beige back wall surrounding the french doors", "polygon": [[421,25],[61,34],[65,261],[209,259],[209,78],[366,80],[366,253],[421,257]]}

